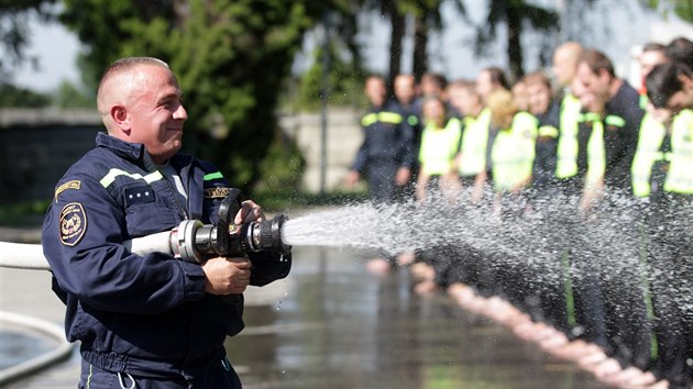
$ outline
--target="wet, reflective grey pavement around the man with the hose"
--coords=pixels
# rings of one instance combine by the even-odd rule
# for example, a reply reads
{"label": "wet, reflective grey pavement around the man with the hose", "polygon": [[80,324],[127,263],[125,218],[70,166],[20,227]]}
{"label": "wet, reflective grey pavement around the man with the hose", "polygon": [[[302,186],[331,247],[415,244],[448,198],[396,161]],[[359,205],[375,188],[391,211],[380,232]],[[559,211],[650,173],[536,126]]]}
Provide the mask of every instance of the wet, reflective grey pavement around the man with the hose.
{"label": "wet, reflective grey pavement around the man with the hose", "polygon": [[[363,254],[295,247],[287,279],[246,292],[246,329],[227,342],[244,388],[607,388],[444,294],[413,293],[405,269],[366,273]],[[0,268],[0,310],[62,323],[47,271]],[[78,364],[6,388],[76,388]]]}

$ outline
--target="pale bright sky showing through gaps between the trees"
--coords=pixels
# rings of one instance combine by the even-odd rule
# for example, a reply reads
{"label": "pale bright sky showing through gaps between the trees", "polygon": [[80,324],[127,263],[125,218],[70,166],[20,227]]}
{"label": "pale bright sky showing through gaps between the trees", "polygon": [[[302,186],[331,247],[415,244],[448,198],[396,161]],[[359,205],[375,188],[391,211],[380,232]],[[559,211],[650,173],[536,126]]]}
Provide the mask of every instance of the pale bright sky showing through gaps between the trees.
{"label": "pale bright sky showing through gaps between the trees", "polygon": [[[536,0],[549,2],[561,7],[565,0]],[[465,1],[470,18],[480,22],[484,18],[486,9],[485,0]],[[457,10],[444,3],[443,22],[446,31],[442,34],[432,34],[429,43],[429,64],[431,70],[448,76],[449,79],[474,78],[475,75],[487,66],[504,66],[505,53],[498,43],[492,47],[492,56],[476,58],[470,49],[473,38],[473,27],[461,23]],[[606,53],[616,65],[617,74],[625,78],[632,78],[632,51],[637,45],[649,41],[667,43],[674,36],[684,35],[693,40],[693,26],[675,20],[663,22],[661,12],[641,11],[638,0],[602,0],[588,11],[586,20],[594,21],[591,31],[585,32],[583,44]],[[598,16],[597,16],[598,15]],[[604,15],[602,18],[602,15]],[[369,65],[372,71],[384,73],[387,67],[389,31],[387,23],[380,15],[364,16],[361,20],[364,32],[358,41],[363,45],[365,58],[370,58]],[[42,24],[34,16],[30,18],[30,31],[32,32],[31,45],[28,54],[38,58],[38,69],[32,69],[29,64],[23,65],[15,74],[15,82],[22,87],[37,91],[53,91],[63,80],[80,82],[76,66],[76,58],[80,44],[74,33],[68,32],[59,23]],[[503,38],[503,31],[499,37]],[[525,41],[525,70],[532,71],[539,67],[538,57],[540,45],[538,34],[529,34]],[[499,40],[501,41],[501,40]],[[404,43],[404,67],[410,70],[411,38]]]}

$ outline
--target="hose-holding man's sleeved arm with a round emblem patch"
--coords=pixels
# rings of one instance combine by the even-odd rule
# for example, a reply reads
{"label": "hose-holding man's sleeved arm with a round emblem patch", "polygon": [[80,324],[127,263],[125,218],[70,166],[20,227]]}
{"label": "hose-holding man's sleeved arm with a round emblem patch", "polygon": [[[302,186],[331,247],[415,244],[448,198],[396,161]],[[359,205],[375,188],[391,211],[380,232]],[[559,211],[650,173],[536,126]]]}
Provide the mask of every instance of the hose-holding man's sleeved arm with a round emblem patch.
{"label": "hose-holding man's sleeved arm with a round emblem patch", "polygon": [[78,189],[59,192],[43,225],[44,255],[57,286],[84,304],[102,311],[157,314],[202,299],[206,277],[199,264],[123,245],[127,214],[95,178],[64,180]]}

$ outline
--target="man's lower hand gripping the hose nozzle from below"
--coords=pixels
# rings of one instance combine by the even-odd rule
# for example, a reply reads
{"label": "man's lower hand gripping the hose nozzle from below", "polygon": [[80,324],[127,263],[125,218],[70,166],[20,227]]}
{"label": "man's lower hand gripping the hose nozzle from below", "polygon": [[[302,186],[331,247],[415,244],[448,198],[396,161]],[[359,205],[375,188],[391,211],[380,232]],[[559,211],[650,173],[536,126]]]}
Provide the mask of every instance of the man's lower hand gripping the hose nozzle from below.
{"label": "man's lower hand gripping the hose nozzle from below", "polygon": [[250,284],[251,262],[248,258],[215,257],[202,265],[205,291],[210,294],[240,294]]}

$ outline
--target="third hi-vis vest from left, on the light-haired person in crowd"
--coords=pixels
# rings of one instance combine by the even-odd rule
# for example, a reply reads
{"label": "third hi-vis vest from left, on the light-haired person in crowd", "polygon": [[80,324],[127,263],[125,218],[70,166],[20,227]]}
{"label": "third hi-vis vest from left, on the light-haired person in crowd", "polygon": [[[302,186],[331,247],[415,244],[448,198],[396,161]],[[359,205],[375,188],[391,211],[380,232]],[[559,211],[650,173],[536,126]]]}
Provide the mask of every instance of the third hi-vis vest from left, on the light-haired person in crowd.
{"label": "third hi-vis vest from left, on the light-haired person in crowd", "polygon": [[537,118],[518,112],[510,129],[496,135],[491,151],[493,182],[496,191],[510,190],[531,177],[535,162]]}

